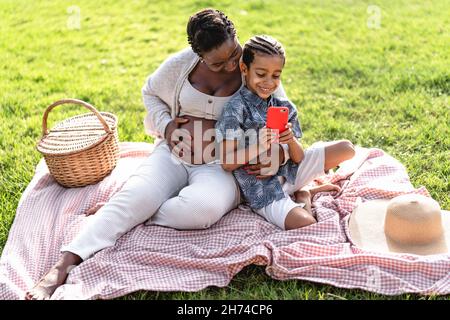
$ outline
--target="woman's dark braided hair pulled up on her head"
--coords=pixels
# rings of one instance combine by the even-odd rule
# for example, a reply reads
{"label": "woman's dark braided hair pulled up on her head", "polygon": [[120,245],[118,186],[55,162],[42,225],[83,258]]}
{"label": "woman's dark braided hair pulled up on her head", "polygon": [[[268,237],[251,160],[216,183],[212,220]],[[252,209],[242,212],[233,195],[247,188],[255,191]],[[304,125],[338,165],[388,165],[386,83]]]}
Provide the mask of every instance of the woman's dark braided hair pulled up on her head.
{"label": "woman's dark braided hair pulled up on her head", "polygon": [[203,9],[189,18],[187,24],[188,42],[192,50],[201,56],[219,47],[228,39],[234,39],[234,24],[221,11]]}

